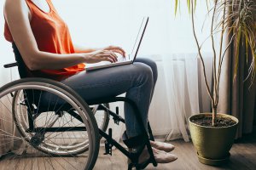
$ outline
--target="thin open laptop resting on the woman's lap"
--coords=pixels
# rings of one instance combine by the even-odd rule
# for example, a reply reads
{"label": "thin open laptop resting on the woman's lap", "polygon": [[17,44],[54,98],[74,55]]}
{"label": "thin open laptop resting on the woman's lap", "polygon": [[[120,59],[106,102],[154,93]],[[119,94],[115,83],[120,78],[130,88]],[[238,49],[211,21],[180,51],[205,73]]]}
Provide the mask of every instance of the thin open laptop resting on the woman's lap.
{"label": "thin open laptop resting on the woman's lap", "polygon": [[[141,42],[143,41],[143,36],[148,26],[148,17],[144,17],[140,29],[137,34],[136,41],[132,48],[131,54],[128,54],[125,58],[121,54],[118,55],[118,61],[115,63],[110,63],[108,61],[102,61],[96,64],[86,64],[85,71],[95,71],[103,68],[119,66],[119,65],[131,65],[137,57],[137,52],[140,48]],[[135,50],[136,48],[136,50]]]}

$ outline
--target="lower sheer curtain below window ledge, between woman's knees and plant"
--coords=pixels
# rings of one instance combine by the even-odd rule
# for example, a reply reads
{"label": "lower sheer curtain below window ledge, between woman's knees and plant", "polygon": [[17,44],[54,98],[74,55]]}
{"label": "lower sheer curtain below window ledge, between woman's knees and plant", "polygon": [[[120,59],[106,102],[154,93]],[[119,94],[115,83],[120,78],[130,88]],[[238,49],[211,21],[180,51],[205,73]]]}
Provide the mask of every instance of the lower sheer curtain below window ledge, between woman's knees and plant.
{"label": "lower sheer curtain below window ledge, between woman's knees and plant", "polygon": [[[204,53],[204,56],[207,67],[211,68],[212,53]],[[157,139],[189,141],[189,116],[210,111],[197,54],[160,55],[156,63],[159,78],[149,109],[153,133]],[[211,75],[212,69],[208,69],[210,84]],[[203,101],[201,105],[200,101]]]}

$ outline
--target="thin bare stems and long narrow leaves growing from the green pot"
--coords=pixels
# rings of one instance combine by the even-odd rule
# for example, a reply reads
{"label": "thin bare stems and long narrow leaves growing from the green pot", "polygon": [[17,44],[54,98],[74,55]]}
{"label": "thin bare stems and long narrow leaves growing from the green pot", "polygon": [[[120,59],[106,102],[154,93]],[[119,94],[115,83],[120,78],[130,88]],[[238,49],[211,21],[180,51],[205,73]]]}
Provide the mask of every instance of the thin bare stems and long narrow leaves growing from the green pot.
{"label": "thin bare stems and long narrow leaves growing from the green pot", "polygon": [[[175,14],[177,13],[177,5],[181,0],[175,1]],[[203,67],[204,82],[207,86],[207,93],[212,100],[212,126],[215,125],[216,113],[214,108],[218,106],[218,89],[219,80],[222,70],[222,64],[225,53],[233,45],[235,49],[235,71],[234,78],[236,77],[239,60],[245,58],[249,66],[248,76],[251,77],[251,85],[253,85],[256,75],[256,1],[255,0],[204,0],[207,3],[208,14],[211,16],[211,32],[209,37],[212,39],[212,52],[213,52],[213,90],[211,92],[206,77],[206,68],[204,59],[201,53],[202,44],[198,41],[195,31],[194,13],[196,7],[196,0],[187,0],[187,6],[189,14],[191,15],[193,33],[195,42],[197,45],[198,56],[201,59],[201,65]],[[212,3],[213,2],[213,3]],[[211,6],[211,7],[210,7]],[[220,41],[217,42],[213,38],[213,35],[220,33]],[[224,34],[230,37],[230,42],[227,43],[227,47],[224,47]],[[205,41],[204,41],[205,42]],[[219,53],[216,53],[216,45],[219,45]],[[244,47],[245,54],[240,54],[240,48]],[[252,59],[248,59],[249,54],[252,54]],[[218,68],[217,68],[218,61]]]}

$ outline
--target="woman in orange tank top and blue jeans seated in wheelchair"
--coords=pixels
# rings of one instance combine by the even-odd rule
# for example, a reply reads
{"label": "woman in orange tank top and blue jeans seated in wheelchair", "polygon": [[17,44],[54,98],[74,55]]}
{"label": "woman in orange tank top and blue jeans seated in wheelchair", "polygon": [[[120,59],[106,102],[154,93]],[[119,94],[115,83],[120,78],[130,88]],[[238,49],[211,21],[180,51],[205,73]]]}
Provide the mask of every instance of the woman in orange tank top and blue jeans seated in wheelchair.
{"label": "woman in orange tank top and blue jeans seated in wheelchair", "polygon": [[[138,58],[133,65],[122,65],[86,72],[86,63],[116,62],[117,54],[125,51],[116,46],[79,48],[73,45],[66,23],[61,20],[50,0],[6,0],[4,7],[4,37],[12,42],[15,55],[20,54],[25,64],[26,77],[47,77],[73,88],[86,101],[126,93],[134,101],[148,126],[148,108],[157,80],[157,66],[153,60]],[[85,64],[84,64],[85,63]],[[124,139],[140,144],[141,127],[130,105],[125,104]],[[158,163],[175,161],[169,153],[172,144],[150,141]],[[134,145],[134,144],[133,144]],[[147,148],[139,161],[147,159]]]}

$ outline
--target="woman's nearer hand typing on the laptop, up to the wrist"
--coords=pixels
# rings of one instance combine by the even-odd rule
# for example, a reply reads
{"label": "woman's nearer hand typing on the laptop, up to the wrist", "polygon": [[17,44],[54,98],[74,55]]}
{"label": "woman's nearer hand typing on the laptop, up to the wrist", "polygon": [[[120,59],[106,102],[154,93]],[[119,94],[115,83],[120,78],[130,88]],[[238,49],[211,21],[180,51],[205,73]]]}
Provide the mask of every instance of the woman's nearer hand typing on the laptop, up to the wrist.
{"label": "woman's nearer hand typing on the laptop, up to the wrist", "polygon": [[[114,50],[97,50],[95,52],[92,52],[90,54],[85,54],[84,60],[85,63],[98,63],[101,61],[109,61],[111,63],[114,63],[118,60],[118,56],[114,54]],[[117,52],[118,53],[118,52]]]}

